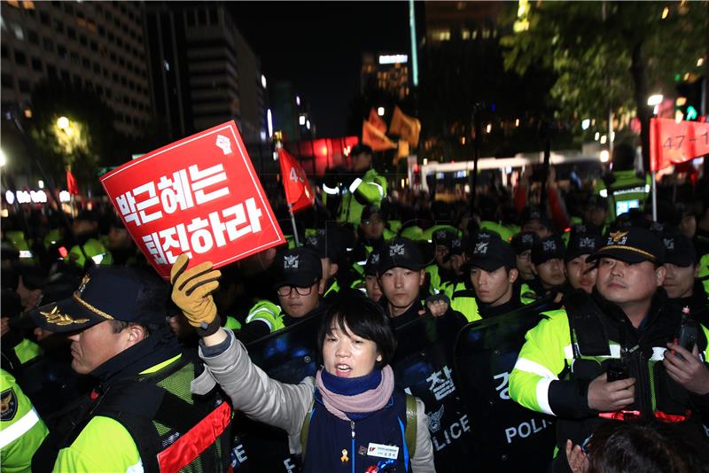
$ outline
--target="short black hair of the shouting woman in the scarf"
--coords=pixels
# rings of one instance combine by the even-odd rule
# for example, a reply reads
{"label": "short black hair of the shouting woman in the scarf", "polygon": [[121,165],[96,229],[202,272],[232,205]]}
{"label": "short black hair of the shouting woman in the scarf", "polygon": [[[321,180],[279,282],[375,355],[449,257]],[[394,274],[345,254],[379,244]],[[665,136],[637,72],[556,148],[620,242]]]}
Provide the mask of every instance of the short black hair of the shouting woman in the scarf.
{"label": "short black hair of the shouting woman in the scarf", "polygon": [[344,333],[354,333],[357,337],[374,342],[382,356],[382,361],[377,362],[378,368],[392,361],[396,351],[396,337],[393,335],[389,318],[381,306],[367,298],[362,291],[339,291],[335,302],[325,310],[317,334],[321,351],[325,336],[331,334],[331,328],[335,325]]}

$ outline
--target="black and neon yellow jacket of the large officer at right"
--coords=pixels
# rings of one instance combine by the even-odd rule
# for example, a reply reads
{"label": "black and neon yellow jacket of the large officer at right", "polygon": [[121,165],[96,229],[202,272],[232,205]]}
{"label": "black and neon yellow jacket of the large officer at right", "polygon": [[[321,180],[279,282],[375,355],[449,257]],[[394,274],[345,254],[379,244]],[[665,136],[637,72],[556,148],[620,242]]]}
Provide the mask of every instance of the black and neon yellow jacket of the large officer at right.
{"label": "black and neon yellow jacket of the large officer at right", "polygon": [[[557,466],[565,465],[567,438],[580,445],[605,422],[601,413],[588,407],[588,384],[624,352],[629,376],[636,379],[635,402],[624,410],[675,421],[691,411],[690,422],[696,423],[694,431],[699,432],[697,421],[709,410],[709,395],[685,390],[667,376],[662,363],[666,343],[673,341],[682,317],[667,310],[663,289],[656,292],[649,314],[637,329],[618,306],[596,291],[593,295],[576,291],[565,298],[565,309],[542,315],[541,322],[526,334],[510,375],[510,397],[524,407],[559,418]],[[697,345],[706,361],[709,330],[699,327]]]}

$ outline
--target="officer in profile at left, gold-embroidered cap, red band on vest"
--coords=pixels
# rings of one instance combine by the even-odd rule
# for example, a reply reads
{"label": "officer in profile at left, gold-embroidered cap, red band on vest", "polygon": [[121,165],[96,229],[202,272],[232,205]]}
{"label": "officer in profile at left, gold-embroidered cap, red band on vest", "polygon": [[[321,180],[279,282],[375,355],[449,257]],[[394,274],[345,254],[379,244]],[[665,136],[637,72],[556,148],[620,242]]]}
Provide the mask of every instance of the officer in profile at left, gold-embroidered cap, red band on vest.
{"label": "officer in profile at left, gold-embroidered cap, red band on vest", "polygon": [[[182,273],[188,261],[178,261]],[[208,293],[215,284],[197,267],[175,297]],[[198,464],[226,471],[230,407],[214,392],[192,398],[197,367],[168,328],[167,296],[168,286],[157,275],[95,267],[72,298],[33,312],[43,329],[69,334],[74,371],[98,380],[89,396],[51,425],[33,471],[156,471]]]}

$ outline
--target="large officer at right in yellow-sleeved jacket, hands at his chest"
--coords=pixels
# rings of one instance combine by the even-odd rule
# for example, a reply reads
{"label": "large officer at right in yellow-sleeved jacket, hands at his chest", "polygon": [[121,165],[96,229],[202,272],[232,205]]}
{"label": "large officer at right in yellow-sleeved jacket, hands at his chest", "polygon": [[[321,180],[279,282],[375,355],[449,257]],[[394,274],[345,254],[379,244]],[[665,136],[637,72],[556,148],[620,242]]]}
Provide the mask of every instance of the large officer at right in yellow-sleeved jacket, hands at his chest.
{"label": "large officer at right in yellow-sleeved jacket, hands at his chest", "polygon": [[[650,230],[612,232],[598,260],[597,292],[575,291],[526,334],[510,375],[510,397],[557,415],[556,471],[567,471],[567,439],[581,445],[599,423],[636,416],[682,422],[703,438],[709,407],[707,329],[690,350],[672,343],[682,314],[661,289],[665,249]],[[570,448],[569,448],[570,451]]]}

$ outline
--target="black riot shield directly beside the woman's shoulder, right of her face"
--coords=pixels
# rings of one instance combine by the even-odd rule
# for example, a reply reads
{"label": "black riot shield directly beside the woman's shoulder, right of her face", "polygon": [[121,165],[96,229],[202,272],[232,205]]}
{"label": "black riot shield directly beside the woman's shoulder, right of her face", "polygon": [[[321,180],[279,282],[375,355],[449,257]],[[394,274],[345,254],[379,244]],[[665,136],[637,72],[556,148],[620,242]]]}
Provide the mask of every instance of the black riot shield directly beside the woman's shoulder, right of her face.
{"label": "black riot shield directly beside the woman's shoulder, right of her face", "polygon": [[471,422],[452,376],[456,325],[426,315],[398,327],[395,333],[398,345],[392,368],[396,382],[424,401],[436,471],[469,469],[474,465]]}

